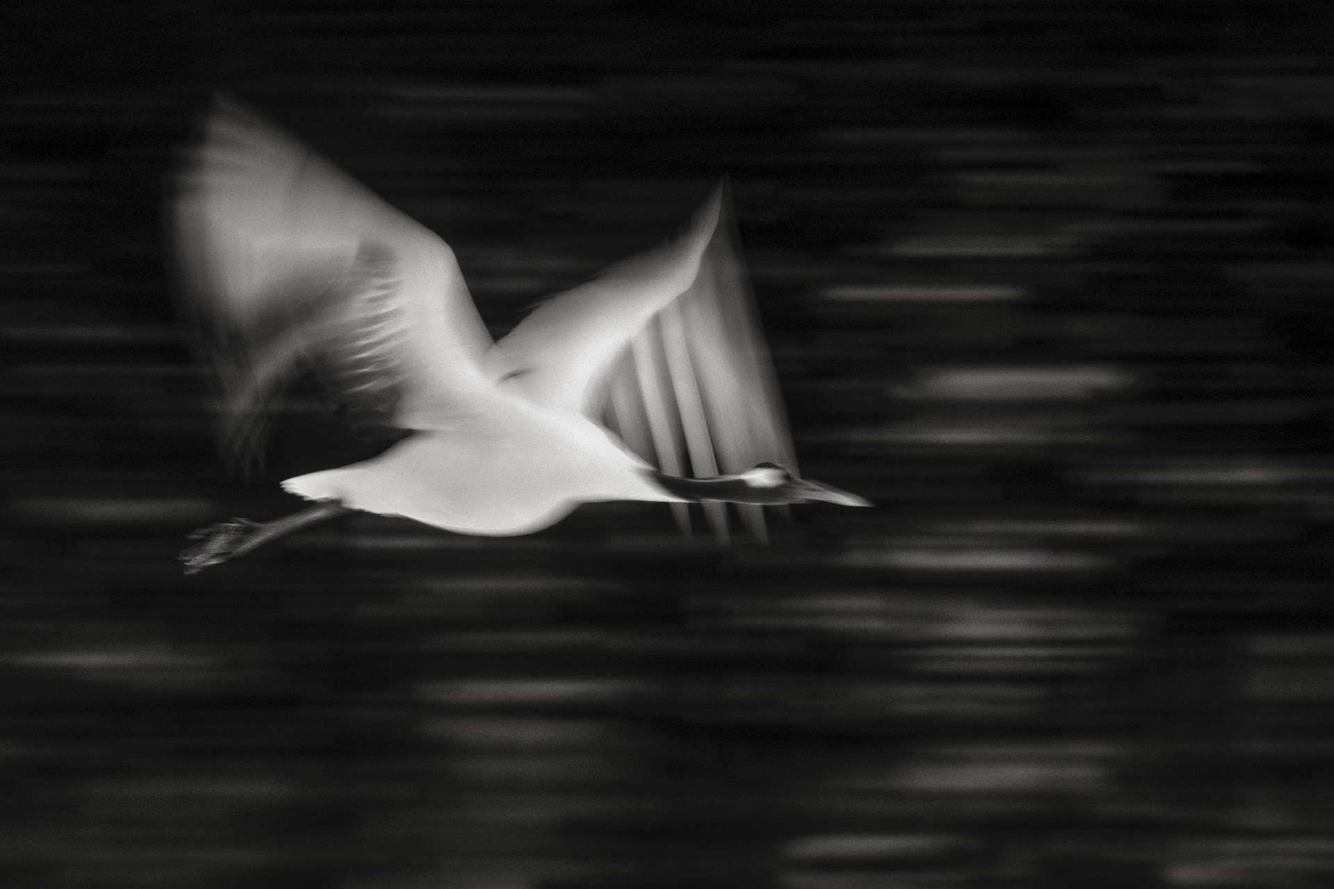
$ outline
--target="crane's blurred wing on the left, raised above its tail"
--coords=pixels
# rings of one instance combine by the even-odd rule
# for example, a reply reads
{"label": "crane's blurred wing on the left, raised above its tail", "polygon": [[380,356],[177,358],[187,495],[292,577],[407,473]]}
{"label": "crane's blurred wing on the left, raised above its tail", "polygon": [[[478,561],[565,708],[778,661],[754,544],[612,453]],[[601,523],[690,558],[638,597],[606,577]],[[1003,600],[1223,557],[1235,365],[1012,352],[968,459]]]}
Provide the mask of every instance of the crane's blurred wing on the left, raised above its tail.
{"label": "crane's blurred wing on the left, raised above its tail", "polygon": [[232,456],[256,454],[300,357],[404,428],[442,425],[488,385],[491,337],[450,247],[235,100],[204,116],[172,221]]}

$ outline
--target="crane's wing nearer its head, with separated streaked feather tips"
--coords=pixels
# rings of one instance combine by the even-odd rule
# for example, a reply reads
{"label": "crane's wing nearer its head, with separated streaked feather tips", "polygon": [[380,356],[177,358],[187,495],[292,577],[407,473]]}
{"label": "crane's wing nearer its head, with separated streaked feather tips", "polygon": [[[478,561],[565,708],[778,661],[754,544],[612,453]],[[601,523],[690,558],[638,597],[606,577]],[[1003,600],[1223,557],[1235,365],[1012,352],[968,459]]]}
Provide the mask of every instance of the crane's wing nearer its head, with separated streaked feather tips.
{"label": "crane's wing nearer its head, with separated streaked feather tips", "polygon": [[[763,461],[798,472],[738,243],[723,184],[684,236],[544,303],[495,345],[488,368],[520,375],[530,399],[602,419],[666,473]],[[736,508],[764,540],[764,508]],[[672,509],[688,532],[687,505]],[[726,504],[703,509],[727,540]]]}

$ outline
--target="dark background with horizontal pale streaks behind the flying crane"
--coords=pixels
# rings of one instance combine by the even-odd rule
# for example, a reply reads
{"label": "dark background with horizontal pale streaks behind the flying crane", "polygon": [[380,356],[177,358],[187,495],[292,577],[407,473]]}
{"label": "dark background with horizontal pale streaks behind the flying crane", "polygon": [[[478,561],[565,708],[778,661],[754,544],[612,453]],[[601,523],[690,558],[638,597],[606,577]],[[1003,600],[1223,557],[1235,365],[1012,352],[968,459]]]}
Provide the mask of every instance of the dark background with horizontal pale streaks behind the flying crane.
{"label": "dark background with horizontal pale streaks behind the flying crane", "polygon": [[[1334,7],[0,16],[0,885],[1329,885]],[[879,506],[183,577],[374,446],[217,456],[160,219],[215,89],[498,333],[730,172],[802,468]]]}

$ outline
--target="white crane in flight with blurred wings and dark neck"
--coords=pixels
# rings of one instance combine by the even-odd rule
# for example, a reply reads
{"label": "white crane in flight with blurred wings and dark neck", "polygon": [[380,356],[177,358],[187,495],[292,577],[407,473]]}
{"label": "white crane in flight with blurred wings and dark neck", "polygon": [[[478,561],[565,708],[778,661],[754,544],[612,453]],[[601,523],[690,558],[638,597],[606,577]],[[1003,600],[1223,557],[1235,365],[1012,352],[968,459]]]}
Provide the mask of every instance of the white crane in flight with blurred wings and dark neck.
{"label": "white crane in flight with blurred wings and dark neck", "polygon": [[403,431],[380,456],[288,478],[313,501],[200,529],[187,573],[348,510],[524,534],[582,502],[766,506],[862,497],[798,477],[732,233],[726,183],[683,233],[534,309],[492,341],[434,232],[240,103],[220,97],[172,201],[176,261],[224,395],[224,444],[253,458],[297,367]]}

